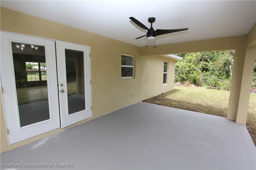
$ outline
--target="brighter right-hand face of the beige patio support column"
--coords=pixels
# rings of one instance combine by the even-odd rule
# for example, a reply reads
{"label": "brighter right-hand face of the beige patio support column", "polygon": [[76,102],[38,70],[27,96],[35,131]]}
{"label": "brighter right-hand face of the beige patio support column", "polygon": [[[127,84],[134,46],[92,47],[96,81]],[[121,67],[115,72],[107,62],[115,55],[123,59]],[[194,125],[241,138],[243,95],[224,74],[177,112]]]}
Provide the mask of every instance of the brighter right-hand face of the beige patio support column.
{"label": "brighter right-hand face of the beige patio support column", "polygon": [[244,59],[243,72],[242,72],[242,82],[241,82],[240,96],[239,96],[239,102],[238,102],[238,111],[236,115],[236,123],[240,123],[244,125],[246,125],[246,120],[247,120],[255,58],[256,58],[256,47],[247,48],[245,59]]}

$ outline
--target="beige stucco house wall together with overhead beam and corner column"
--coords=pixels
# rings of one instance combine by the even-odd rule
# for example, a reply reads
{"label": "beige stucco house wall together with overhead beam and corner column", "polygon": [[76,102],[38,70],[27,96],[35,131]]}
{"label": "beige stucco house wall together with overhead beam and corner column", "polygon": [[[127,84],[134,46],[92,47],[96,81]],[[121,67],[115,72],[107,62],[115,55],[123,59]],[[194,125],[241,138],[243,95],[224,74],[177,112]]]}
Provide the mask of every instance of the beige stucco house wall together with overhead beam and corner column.
{"label": "beige stucco house wall together with overhead beam and corner column", "polygon": [[[253,58],[255,59],[255,25],[247,35],[158,45],[154,48],[136,47],[5,8],[1,8],[0,24],[2,31],[90,46],[93,107],[90,119],[172,90],[174,74],[168,74],[168,85],[162,84],[162,74],[164,61],[169,62],[169,73],[174,71],[175,61],[159,55],[234,49],[236,56],[227,118],[242,124],[246,122],[248,96],[250,96],[250,94],[248,95],[248,83],[252,79],[251,72],[253,71],[251,61]],[[135,56],[135,78],[121,79],[122,53]],[[2,102],[0,105],[1,152],[90,120],[87,119],[70,127],[56,129],[8,146]]]}

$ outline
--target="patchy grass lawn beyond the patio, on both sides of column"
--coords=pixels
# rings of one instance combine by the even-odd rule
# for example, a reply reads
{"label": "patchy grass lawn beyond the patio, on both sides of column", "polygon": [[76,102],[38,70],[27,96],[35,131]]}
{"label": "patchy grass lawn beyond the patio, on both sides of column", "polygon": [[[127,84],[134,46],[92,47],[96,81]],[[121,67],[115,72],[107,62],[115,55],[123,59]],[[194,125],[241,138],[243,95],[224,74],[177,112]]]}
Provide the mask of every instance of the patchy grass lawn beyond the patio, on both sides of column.
{"label": "patchy grass lawn beyond the patio, on both sides of column", "polygon": [[[230,92],[223,90],[174,86],[174,90],[146,99],[143,102],[226,117],[229,94]],[[255,93],[250,95],[246,127],[256,146]]]}

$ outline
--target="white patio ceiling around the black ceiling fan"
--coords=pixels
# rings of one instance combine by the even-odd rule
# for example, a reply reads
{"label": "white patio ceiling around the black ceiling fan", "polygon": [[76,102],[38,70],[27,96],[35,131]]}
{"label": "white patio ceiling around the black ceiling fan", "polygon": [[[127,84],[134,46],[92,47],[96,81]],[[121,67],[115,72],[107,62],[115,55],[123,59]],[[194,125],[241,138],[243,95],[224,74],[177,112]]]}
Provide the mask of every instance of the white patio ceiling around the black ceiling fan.
{"label": "white patio ceiling around the black ceiling fan", "polygon": [[156,45],[245,35],[256,23],[256,1],[173,1],[173,0],[70,0],[12,1],[0,6],[46,20],[70,25],[139,47],[146,45],[146,30],[135,25],[134,17],[153,28],[187,31],[156,37]]}

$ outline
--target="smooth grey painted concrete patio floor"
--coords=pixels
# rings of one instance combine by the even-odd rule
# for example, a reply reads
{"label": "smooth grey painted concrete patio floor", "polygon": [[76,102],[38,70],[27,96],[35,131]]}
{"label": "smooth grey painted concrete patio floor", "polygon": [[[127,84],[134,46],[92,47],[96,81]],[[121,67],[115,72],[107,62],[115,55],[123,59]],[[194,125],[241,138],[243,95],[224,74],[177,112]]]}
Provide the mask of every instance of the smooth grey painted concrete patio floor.
{"label": "smooth grey painted concrete patio floor", "polygon": [[225,117],[139,102],[5,152],[1,169],[249,170],[256,148],[246,126]]}

